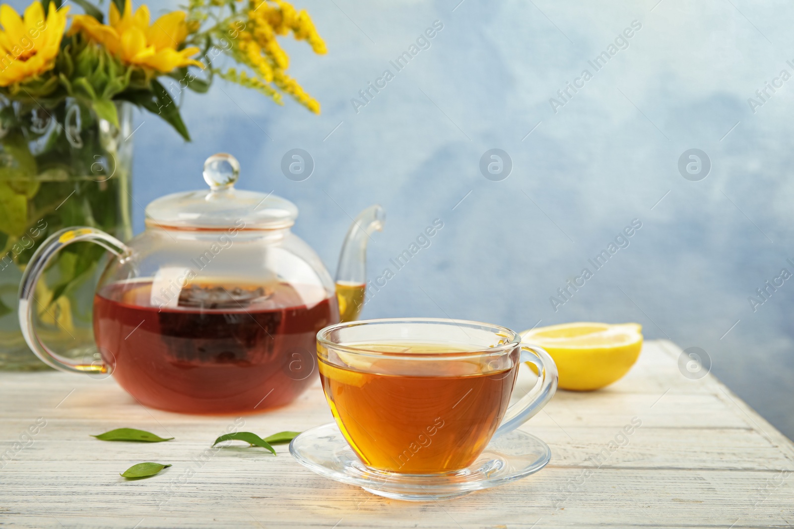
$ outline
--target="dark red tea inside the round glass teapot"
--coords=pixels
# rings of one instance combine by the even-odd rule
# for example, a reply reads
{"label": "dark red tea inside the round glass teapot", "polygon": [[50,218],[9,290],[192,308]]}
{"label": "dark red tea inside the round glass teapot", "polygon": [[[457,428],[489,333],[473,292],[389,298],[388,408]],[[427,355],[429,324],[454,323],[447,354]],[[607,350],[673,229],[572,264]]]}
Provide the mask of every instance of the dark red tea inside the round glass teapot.
{"label": "dark red tea inside the round glass teapot", "polygon": [[152,282],[94,298],[94,335],[118,383],[141,404],[187,413],[260,412],[317,379],[315,335],[339,320],[318,286],[194,283],[152,303]]}

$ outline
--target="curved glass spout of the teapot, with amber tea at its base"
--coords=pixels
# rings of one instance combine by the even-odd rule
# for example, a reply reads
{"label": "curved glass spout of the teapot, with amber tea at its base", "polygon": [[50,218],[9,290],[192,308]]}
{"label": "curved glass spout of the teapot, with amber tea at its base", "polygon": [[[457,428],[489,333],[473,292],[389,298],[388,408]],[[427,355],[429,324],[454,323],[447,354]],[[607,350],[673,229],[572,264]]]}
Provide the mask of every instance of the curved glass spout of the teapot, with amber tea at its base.
{"label": "curved glass spout of the teapot, with amber tea at its base", "polygon": [[367,285],[367,243],[370,234],[384,228],[386,212],[380,205],[371,205],[358,214],[345,236],[337,266],[336,290],[342,322],[358,318],[364,306]]}

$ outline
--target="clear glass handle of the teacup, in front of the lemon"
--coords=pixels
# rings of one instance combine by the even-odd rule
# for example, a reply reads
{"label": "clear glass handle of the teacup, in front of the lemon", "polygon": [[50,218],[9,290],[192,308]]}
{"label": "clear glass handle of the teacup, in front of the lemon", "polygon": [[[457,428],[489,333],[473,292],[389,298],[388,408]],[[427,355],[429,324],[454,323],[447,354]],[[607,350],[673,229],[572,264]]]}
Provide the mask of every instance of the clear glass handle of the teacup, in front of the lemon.
{"label": "clear glass handle of the teacup, in front of the lemon", "polygon": [[507,408],[502,424],[496,428],[494,439],[526,423],[532,416],[541,411],[557,391],[557,365],[541,347],[521,346],[519,362],[530,362],[538,368],[538,381],[521,400]]}

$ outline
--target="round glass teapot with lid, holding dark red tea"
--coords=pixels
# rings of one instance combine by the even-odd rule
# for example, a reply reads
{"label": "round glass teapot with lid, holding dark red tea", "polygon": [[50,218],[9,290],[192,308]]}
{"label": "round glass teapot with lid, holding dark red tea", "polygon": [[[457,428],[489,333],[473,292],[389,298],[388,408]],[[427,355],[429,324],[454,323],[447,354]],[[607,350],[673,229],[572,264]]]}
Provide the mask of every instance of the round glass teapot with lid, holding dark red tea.
{"label": "round glass teapot with lid, holding dark red tea", "polygon": [[[204,164],[210,190],[170,194],[146,207],[146,230],[128,244],[94,228],[67,228],[37,249],[20,286],[29,347],[59,370],[112,373],[141,404],[173,412],[245,413],[288,404],[317,377],[315,335],[355,320],[364,302],[366,249],[383,228],[364,209],[342,245],[336,284],[290,231],[295,205],[236,190],[227,154]],[[52,351],[33,328],[36,284],[67,244],[115,254],[94,295],[94,362]]]}

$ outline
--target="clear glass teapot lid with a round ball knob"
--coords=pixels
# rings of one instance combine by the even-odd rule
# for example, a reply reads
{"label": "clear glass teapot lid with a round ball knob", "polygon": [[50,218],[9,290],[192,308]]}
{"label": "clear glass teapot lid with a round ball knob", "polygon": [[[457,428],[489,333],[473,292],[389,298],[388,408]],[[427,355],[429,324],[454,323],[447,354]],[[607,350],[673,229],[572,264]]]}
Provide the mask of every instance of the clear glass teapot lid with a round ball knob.
{"label": "clear glass teapot lid with a round ball knob", "polygon": [[272,193],[234,189],[240,163],[233,155],[212,155],[204,163],[210,190],[183,191],[156,198],[146,206],[146,224],[175,229],[235,227],[277,229],[295,224],[298,208]]}

